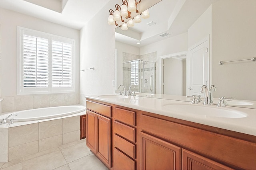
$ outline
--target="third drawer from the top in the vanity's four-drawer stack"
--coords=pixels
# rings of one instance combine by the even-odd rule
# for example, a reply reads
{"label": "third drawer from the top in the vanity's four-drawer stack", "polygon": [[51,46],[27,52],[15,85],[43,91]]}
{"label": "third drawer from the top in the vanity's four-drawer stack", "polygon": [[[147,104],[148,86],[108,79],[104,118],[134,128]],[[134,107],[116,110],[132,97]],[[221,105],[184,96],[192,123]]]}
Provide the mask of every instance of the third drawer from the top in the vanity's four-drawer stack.
{"label": "third drawer from the top in the vanity's four-drawer stack", "polygon": [[114,135],[114,146],[118,149],[122,150],[124,153],[126,153],[131,158],[135,159],[135,145],[126,141],[122,137],[119,137],[118,135]]}

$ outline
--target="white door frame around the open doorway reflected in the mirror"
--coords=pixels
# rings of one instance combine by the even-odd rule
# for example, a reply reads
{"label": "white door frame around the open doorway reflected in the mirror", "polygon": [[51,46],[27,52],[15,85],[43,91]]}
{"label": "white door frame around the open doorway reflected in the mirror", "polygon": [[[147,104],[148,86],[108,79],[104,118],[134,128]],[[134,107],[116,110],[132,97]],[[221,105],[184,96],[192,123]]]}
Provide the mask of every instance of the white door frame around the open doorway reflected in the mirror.
{"label": "white door frame around the open doorway reflected in the mirror", "polygon": [[156,61],[156,68],[158,68],[158,71],[156,72],[156,77],[158,78],[158,84],[156,86],[156,93],[157,94],[163,94],[163,60],[164,59],[167,59],[167,58],[178,58],[182,55],[186,55],[186,60],[188,58],[188,55],[187,55],[188,51],[181,51],[181,52],[178,52],[178,53],[172,53],[172,54],[168,54],[168,55],[163,55],[163,56],[160,56],[158,57],[157,61]]}

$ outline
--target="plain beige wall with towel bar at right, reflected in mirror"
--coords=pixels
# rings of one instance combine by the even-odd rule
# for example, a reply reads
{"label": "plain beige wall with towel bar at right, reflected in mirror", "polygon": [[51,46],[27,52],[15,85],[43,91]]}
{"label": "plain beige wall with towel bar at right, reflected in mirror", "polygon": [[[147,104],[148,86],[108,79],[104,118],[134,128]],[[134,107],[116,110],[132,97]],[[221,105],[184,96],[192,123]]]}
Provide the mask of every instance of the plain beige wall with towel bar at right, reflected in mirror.
{"label": "plain beige wall with towel bar at right, reflected in mirror", "polygon": [[256,0],[225,0],[212,5],[212,83],[215,96],[256,100]]}

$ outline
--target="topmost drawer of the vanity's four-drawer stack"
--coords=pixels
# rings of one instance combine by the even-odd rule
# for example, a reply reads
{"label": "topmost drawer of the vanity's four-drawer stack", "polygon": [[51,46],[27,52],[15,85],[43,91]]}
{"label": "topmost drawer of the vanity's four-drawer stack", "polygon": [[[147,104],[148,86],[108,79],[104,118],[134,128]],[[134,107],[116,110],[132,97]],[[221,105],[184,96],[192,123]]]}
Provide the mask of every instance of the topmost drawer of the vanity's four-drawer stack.
{"label": "topmost drawer of the vanity's four-drawer stack", "polygon": [[135,126],[135,112],[134,111],[114,107],[113,117],[114,117],[114,119],[117,119],[117,120],[127,123],[129,125]]}

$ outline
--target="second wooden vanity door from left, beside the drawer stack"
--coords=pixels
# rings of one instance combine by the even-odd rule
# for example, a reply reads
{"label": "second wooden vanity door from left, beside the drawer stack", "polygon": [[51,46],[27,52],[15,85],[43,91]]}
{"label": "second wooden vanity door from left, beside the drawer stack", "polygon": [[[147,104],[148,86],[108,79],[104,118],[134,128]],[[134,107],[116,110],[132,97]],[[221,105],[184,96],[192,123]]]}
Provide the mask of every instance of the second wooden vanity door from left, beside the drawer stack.
{"label": "second wooden vanity door from left, beside the drawer stack", "polygon": [[99,114],[96,114],[96,120],[96,155],[111,168],[111,120]]}

